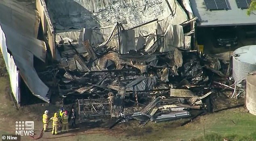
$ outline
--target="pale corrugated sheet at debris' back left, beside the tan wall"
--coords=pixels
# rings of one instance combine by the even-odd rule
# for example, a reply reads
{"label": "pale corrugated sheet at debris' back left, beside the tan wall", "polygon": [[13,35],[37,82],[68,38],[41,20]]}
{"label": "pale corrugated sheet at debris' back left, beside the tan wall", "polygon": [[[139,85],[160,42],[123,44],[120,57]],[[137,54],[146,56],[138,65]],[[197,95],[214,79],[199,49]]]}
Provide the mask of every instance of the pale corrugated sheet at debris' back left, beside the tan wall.
{"label": "pale corrugated sheet at debris' back left, beside the tan wall", "polygon": [[[56,35],[59,35],[61,36],[61,38],[65,38],[65,37],[68,37],[70,39],[73,39],[73,42],[72,44],[77,46],[79,45],[79,41],[82,41],[82,31],[65,31],[65,32],[59,32],[59,33],[56,33]],[[56,45],[69,45],[68,44],[59,44],[59,43],[56,43]]]}

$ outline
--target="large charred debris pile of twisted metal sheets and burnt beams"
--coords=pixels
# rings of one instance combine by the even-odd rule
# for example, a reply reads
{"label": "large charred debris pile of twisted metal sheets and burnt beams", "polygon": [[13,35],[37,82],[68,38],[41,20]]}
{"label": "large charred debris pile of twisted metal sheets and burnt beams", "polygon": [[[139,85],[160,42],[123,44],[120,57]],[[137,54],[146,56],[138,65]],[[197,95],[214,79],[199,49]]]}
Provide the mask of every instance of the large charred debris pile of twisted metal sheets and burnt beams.
{"label": "large charred debris pile of twisted metal sheets and burnt beams", "polygon": [[76,100],[80,119],[109,116],[145,124],[188,118],[212,110],[208,99],[216,91],[213,82],[225,79],[226,66],[218,58],[193,50],[120,54],[113,48],[92,48],[88,40],[83,45],[87,52],[61,60],[54,76],[59,95]]}

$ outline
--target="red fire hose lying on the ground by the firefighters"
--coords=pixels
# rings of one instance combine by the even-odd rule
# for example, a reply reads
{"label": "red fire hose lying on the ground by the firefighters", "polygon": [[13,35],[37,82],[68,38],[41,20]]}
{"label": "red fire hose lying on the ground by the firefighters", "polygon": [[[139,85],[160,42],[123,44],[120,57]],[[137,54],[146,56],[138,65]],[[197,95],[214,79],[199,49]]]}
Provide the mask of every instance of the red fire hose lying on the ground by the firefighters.
{"label": "red fire hose lying on the ground by the firefighters", "polygon": [[[115,130],[120,130],[118,132],[113,132]],[[87,133],[88,132],[88,133]],[[122,128],[114,128],[114,129],[102,129],[102,130],[86,130],[86,131],[81,131],[75,134],[70,134],[70,135],[63,135],[63,136],[56,136],[56,137],[47,137],[43,138],[44,135],[44,129],[42,129],[39,137],[34,137],[31,136],[32,139],[57,139],[57,138],[62,138],[62,137],[71,137],[71,136],[77,136],[77,135],[90,135],[90,134],[102,134],[102,133],[109,133],[109,134],[118,134],[118,133],[123,133],[124,129]]]}

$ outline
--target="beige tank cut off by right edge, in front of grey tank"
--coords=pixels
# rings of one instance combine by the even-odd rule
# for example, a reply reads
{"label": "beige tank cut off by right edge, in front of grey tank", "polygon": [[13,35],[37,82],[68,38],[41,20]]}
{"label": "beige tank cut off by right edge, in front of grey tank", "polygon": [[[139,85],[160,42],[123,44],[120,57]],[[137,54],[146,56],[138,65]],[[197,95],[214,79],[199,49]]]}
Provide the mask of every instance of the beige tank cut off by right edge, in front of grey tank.
{"label": "beige tank cut off by right edge, in front of grey tank", "polygon": [[256,115],[256,71],[247,76],[246,108],[251,114]]}

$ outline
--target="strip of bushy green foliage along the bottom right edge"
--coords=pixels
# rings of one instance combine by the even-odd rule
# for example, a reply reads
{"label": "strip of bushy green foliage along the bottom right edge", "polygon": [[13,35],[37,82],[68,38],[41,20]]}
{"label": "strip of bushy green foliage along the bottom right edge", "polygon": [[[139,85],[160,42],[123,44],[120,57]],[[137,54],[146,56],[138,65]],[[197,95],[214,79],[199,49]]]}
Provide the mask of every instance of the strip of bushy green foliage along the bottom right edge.
{"label": "strip of bushy green foliage along the bottom right edge", "polygon": [[224,141],[224,139],[227,139],[228,141],[255,141],[256,132],[250,134],[249,136],[241,136],[241,135],[222,136],[214,133],[214,134],[208,134],[205,137],[191,139],[190,141]]}

